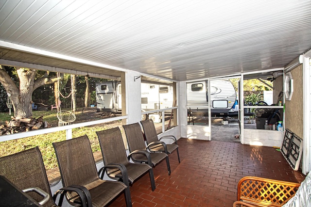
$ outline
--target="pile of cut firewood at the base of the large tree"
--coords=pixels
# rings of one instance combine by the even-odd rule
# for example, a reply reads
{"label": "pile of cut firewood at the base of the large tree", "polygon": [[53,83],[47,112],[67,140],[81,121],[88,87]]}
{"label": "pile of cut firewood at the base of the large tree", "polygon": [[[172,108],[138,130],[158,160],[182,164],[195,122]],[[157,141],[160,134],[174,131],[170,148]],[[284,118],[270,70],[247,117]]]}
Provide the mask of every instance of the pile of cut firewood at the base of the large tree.
{"label": "pile of cut firewood at the base of the large tree", "polygon": [[11,121],[6,121],[5,125],[0,126],[1,135],[51,127],[47,121],[43,121],[43,116],[39,118],[11,116],[11,119]]}

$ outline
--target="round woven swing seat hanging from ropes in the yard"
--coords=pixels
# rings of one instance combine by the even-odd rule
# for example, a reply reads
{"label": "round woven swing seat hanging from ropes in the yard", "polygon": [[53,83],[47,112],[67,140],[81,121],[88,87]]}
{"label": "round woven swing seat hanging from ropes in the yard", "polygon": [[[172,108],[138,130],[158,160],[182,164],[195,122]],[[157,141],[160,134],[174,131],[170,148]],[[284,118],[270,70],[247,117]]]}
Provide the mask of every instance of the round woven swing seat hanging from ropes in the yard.
{"label": "round woven swing seat hanging from ropes in the yard", "polygon": [[[71,92],[68,96],[66,96],[66,97],[63,96],[59,91],[59,86],[60,86],[60,84],[59,84],[60,74],[59,73],[57,73],[57,78],[58,78],[58,93],[59,93],[59,95],[61,95],[64,98],[68,98],[71,95]],[[71,82],[72,82],[72,80],[71,80]],[[59,95],[58,95],[58,100],[57,100],[58,103],[60,102]],[[72,108],[72,99],[71,99],[71,108]],[[58,108],[57,108],[57,110],[58,110]],[[69,125],[76,120],[76,116],[74,115],[73,112],[66,111],[66,110],[62,111],[60,108],[60,105],[59,105],[59,111],[57,112],[56,116],[58,118],[58,126],[59,127],[64,126],[64,125]]]}

